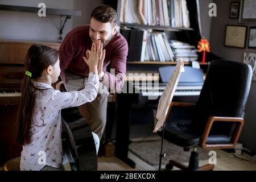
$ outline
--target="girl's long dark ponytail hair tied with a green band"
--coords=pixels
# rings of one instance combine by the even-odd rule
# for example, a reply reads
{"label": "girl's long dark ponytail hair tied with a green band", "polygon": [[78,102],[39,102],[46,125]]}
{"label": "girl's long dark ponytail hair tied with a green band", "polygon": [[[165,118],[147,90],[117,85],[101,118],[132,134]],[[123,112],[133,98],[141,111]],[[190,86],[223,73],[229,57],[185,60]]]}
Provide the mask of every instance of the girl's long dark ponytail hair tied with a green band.
{"label": "girl's long dark ponytail hair tied with a green band", "polygon": [[18,134],[16,142],[28,144],[31,142],[32,113],[35,105],[34,85],[31,79],[36,79],[49,66],[55,65],[58,53],[55,49],[42,44],[33,44],[27,52],[25,60],[25,71],[32,73],[32,76],[24,76],[21,86],[21,100],[18,110]]}

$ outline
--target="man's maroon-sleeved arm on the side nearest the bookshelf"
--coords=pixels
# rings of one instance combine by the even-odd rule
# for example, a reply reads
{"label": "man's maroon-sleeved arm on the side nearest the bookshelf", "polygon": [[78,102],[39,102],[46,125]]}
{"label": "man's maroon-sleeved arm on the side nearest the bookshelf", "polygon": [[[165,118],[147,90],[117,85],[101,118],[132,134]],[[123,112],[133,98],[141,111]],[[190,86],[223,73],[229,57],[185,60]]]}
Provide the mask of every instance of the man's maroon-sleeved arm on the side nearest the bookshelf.
{"label": "man's maroon-sleeved arm on the side nearest the bookshelf", "polygon": [[115,92],[121,91],[125,82],[127,53],[128,45],[127,42],[124,41],[112,52],[111,73],[105,72],[102,78],[102,84]]}

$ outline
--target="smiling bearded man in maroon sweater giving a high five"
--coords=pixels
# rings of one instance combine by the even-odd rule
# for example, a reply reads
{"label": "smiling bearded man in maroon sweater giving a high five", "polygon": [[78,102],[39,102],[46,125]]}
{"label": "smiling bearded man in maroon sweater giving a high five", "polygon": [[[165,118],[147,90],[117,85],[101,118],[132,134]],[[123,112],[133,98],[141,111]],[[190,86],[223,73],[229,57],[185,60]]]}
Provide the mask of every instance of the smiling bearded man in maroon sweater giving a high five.
{"label": "smiling bearded man in maroon sweater giving a high five", "polygon": [[[97,40],[100,40],[105,49],[103,71],[98,73],[99,93],[96,100],[80,106],[79,110],[88,121],[91,130],[101,139],[106,125],[106,90],[119,92],[123,87],[126,73],[128,46],[126,39],[117,31],[116,11],[108,5],[96,7],[90,16],[89,25],[77,27],[65,36],[59,48],[59,55],[61,76],[67,84],[68,91],[80,90],[84,88],[89,75],[89,68],[82,57],[88,56],[92,43],[96,43]],[[114,73],[111,71],[112,74],[106,71],[110,63],[110,68],[114,69]]]}

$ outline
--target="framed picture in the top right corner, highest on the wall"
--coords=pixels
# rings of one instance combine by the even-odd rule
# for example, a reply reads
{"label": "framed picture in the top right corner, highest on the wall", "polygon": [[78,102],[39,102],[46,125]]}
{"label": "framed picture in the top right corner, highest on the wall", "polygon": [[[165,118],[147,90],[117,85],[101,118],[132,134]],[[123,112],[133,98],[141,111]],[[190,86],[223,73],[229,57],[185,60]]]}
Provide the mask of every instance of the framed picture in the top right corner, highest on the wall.
{"label": "framed picture in the top right corner, highest on the wall", "polygon": [[256,23],[256,1],[241,0],[239,22]]}

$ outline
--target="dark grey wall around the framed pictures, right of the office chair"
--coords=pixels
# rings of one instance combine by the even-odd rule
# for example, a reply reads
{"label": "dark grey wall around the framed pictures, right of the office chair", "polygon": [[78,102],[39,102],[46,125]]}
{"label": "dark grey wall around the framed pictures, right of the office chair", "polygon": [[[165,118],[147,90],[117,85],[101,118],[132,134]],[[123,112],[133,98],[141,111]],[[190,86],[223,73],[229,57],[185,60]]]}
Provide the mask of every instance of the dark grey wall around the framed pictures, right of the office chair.
{"label": "dark grey wall around the framed pictures, right of the office chair", "polygon": [[[256,49],[247,48],[249,27],[255,26],[255,24],[250,23],[239,23],[238,19],[229,18],[229,8],[231,0],[214,0],[217,5],[217,17],[212,18],[211,32],[210,32],[210,46],[212,47],[212,52],[220,57],[224,57],[227,60],[233,61],[243,61],[243,53],[255,52]],[[226,24],[234,25],[245,25],[247,26],[247,39],[246,48],[232,48],[224,46],[225,38],[225,27]],[[242,134],[240,137],[240,142],[244,144],[249,150],[256,152],[256,82],[251,82],[251,90],[249,98],[247,100],[245,108],[245,126],[243,127]]]}

